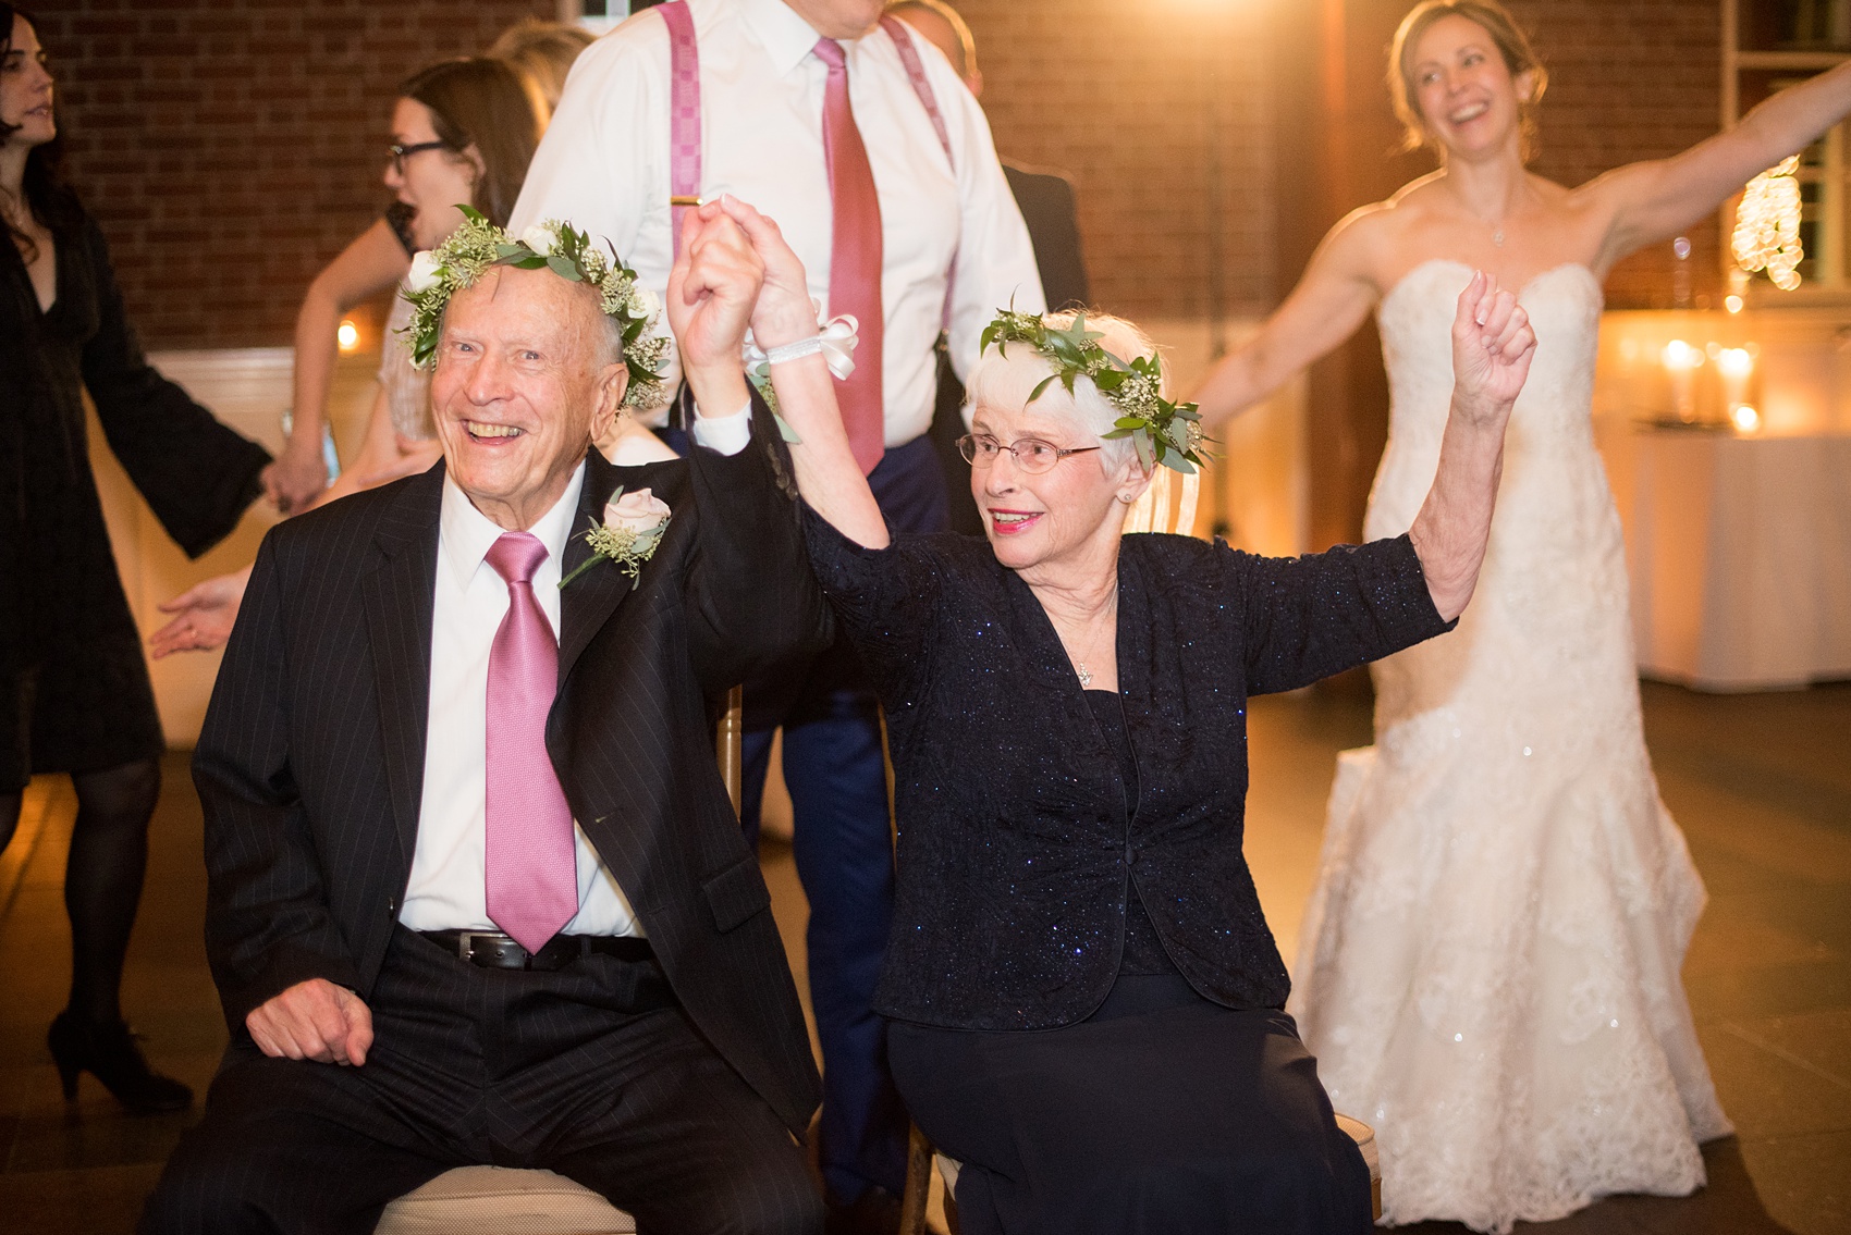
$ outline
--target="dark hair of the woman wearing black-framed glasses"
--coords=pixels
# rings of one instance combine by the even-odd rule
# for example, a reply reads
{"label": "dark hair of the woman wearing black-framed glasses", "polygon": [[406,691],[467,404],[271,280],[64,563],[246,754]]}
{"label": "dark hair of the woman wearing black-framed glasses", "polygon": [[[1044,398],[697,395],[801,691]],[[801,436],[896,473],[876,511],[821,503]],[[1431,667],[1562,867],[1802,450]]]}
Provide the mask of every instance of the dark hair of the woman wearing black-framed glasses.
{"label": "dark hair of the woman wearing black-framed glasses", "polygon": [[431,128],[444,146],[457,153],[476,148],[483,174],[470,205],[505,227],[540,144],[540,116],[520,74],[485,55],[450,59],[407,78],[398,96],[431,109]]}

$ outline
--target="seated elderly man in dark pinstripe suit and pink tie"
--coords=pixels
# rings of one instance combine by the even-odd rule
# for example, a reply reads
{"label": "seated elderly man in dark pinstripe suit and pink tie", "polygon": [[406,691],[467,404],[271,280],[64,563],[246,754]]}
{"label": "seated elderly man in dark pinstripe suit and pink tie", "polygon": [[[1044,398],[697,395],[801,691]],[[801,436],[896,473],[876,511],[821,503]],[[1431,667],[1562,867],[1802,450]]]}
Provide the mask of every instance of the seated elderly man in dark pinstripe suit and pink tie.
{"label": "seated elderly man in dark pinstripe suit and pink tie", "polygon": [[[820,1231],[816,1070],[709,725],[831,634],[740,373],[755,261],[714,231],[676,268],[689,459],[590,449],[611,298],[492,264],[444,311],[442,464],[265,540],[194,758],[233,1041],[143,1229],[363,1233],[496,1163],[642,1231]],[[598,523],[653,555],[594,558]]]}

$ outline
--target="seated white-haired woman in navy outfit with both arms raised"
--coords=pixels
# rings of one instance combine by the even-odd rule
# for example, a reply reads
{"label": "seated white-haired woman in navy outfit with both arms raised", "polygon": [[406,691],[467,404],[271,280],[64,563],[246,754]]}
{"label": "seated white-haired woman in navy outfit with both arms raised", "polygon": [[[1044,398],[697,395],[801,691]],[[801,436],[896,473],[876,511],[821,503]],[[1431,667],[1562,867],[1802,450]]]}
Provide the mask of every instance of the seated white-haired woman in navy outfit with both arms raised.
{"label": "seated white-haired woman in navy outfit with both arms raised", "polygon": [[[1001,314],[1014,342],[972,373],[963,442],[985,540],[890,538],[776,226],[722,200],[687,242],[763,270],[752,329],[801,438],[811,560],[887,710],[900,856],[876,1008],[913,1117],[964,1163],[963,1229],[1370,1229],[1240,852],[1246,701],[1459,618],[1534,349],[1523,311],[1483,275],[1460,298],[1414,529],[1303,558],[1122,536],[1153,459],[1186,466],[1188,409],[1161,401],[1127,324]],[[739,294],[689,287],[687,263],[670,301]]]}

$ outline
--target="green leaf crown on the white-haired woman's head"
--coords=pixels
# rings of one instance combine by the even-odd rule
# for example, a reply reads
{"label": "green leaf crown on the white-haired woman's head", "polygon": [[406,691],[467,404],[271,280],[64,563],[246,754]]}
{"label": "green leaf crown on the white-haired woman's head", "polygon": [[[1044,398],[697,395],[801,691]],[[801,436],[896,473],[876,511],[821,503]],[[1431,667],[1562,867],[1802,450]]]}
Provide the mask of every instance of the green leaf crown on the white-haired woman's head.
{"label": "green leaf crown on the white-haired woman's head", "polygon": [[1101,348],[1101,338],[1099,331],[1087,329],[1087,314],[1059,329],[1040,314],[1003,309],[983,327],[979,351],[996,344],[1007,355],[1009,344],[1029,344],[1053,366],[1053,373],[1029,392],[1029,403],[1055,381],[1074,394],[1074,381],[1085,377],[1120,412],[1103,438],[1131,438],[1146,470],[1162,464],[1185,475],[1194,473],[1205,462],[1203,446],[1209,442],[1201,431],[1201,412],[1194,403],[1162,397],[1162,362],[1155,355],[1133,357],[1127,364]]}

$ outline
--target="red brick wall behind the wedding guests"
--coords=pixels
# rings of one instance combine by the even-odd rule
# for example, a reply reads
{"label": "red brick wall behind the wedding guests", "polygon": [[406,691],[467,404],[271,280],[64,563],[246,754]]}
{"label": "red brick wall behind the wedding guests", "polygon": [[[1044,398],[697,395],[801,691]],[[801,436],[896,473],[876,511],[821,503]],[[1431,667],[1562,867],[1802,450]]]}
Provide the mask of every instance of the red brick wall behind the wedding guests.
{"label": "red brick wall behind the wedding guests", "polygon": [[[1133,316],[1203,312],[1212,240],[1229,311],[1261,312],[1290,285],[1298,259],[1275,255],[1275,203],[1294,192],[1305,152],[1275,141],[1273,105],[1292,83],[1275,79],[1288,57],[1270,41],[1286,26],[1268,17],[1311,2],[963,0],[1000,150],[1079,185],[1101,303]],[[115,246],[144,338],[161,348],[287,342],[307,279],[385,203],[379,148],[394,85],[431,59],[487,46],[524,13],[555,11],[553,0],[35,7],[76,181]],[[1581,183],[1714,131],[1716,0],[1512,9],[1553,74],[1538,172]],[[1355,68],[1353,109],[1386,115],[1377,74],[1379,61]],[[1716,226],[1694,227],[1692,240],[1694,290],[1714,294]],[[1670,264],[1670,246],[1627,261],[1609,303],[1664,303]]]}

